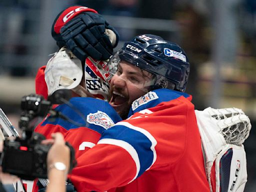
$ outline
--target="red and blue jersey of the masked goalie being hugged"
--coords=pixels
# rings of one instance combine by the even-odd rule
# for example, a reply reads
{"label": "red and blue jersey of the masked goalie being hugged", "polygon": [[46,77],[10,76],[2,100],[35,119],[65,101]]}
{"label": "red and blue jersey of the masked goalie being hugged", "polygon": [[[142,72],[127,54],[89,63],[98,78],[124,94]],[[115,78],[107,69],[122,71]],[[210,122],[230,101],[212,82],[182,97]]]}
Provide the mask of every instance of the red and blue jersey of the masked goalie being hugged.
{"label": "red and blue jersey of the masked goalie being hugged", "polygon": [[[52,132],[61,132],[73,146],[75,158],[94,146],[105,129],[121,120],[109,103],[91,97],[73,97],[68,104],[60,104],[54,110],[65,118],[48,116],[34,131],[46,138],[51,138]],[[32,191],[37,190],[35,181]]]}

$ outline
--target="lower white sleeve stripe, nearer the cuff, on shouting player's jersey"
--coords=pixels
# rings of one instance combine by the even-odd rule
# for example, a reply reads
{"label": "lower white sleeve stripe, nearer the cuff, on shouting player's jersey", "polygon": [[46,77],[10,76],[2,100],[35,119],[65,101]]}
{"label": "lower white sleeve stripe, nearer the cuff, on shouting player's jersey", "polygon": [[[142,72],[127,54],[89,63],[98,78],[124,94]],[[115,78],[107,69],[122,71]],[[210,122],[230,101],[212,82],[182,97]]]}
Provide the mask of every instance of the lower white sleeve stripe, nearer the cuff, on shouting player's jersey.
{"label": "lower white sleeve stripe, nearer the cuff, on shouting player's jersey", "polygon": [[[138,172],[140,170],[140,163],[139,163],[137,151],[133,148],[131,144],[123,140],[112,139],[112,138],[102,138],[97,142],[97,144],[112,144],[112,145],[120,146],[123,149],[125,149],[131,155],[136,165],[136,175],[132,178],[131,181],[133,181],[137,177]],[[129,181],[128,183],[130,183],[131,181]]]}

